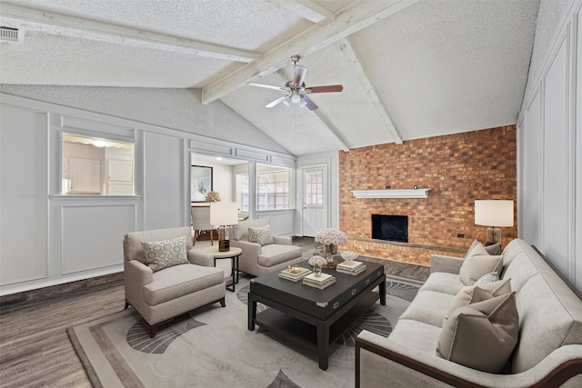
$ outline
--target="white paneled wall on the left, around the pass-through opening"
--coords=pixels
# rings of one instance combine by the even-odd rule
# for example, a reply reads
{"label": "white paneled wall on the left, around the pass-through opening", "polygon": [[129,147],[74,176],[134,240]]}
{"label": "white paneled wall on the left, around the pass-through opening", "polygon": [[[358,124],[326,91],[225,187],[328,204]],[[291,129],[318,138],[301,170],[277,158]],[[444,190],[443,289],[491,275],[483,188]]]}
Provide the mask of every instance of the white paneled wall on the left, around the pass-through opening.
{"label": "white paneled wall on the left, around the pass-through opening", "polygon": [[[0,295],[121,272],[125,234],[189,225],[190,153],[200,144],[295,165],[288,154],[0,98]],[[61,194],[63,132],[135,143],[135,195]],[[292,234],[292,211],[273,216],[278,231]]]}

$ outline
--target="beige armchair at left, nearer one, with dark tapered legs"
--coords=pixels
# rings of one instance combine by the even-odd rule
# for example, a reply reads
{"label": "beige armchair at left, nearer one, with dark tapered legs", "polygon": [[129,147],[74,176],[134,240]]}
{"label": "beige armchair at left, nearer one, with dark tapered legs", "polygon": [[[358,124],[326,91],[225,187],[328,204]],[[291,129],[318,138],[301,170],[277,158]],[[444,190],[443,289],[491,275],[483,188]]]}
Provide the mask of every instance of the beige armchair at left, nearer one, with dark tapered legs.
{"label": "beige armchair at left, nearer one, with dark tapered legs", "polygon": [[[142,243],[186,238],[186,264],[154,272],[146,264]],[[148,323],[150,337],[160,324],[205,304],[225,306],[224,271],[213,267],[212,256],[192,248],[190,227],[159,229],[125,234],[125,308],[132,305]]]}

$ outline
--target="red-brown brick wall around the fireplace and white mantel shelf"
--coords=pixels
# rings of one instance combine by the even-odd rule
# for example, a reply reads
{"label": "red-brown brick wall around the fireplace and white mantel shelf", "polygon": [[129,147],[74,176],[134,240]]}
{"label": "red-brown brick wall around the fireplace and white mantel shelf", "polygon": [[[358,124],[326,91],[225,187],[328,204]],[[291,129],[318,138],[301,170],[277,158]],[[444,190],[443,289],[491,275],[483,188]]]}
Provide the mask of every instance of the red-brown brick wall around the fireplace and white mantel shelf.
{"label": "red-brown brick wall around the fireplace and white mantel shelf", "polygon": [[[429,188],[426,199],[357,199],[352,190]],[[358,254],[429,264],[430,254],[463,256],[486,227],[476,199],[517,198],[515,125],[380,144],[339,153],[339,224]],[[408,244],[371,239],[371,214],[408,216]],[[516,224],[516,223],[514,223]],[[465,234],[465,238],[457,237]],[[505,246],[517,225],[501,228]]]}

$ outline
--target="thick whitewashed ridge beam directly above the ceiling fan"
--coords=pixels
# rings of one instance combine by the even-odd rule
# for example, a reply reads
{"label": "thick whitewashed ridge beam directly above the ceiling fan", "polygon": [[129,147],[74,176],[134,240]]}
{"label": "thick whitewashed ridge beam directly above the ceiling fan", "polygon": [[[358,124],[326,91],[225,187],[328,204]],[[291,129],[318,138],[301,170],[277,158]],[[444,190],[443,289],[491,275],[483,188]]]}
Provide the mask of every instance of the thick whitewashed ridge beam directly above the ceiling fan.
{"label": "thick whitewashed ridge beam directly above the ceiling fan", "polygon": [[280,68],[290,65],[292,55],[306,56],[332,45],[346,36],[373,25],[390,15],[414,5],[419,0],[402,0],[396,4],[380,1],[357,2],[336,15],[336,20],[327,25],[314,25],[302,34],[296,35],[286,43],[266,53],[261,59],[240,67],[236,72],[209,85],[202,90],[203,104],[209,104],[234,92],[239,87],[258,77],[269,75]]}

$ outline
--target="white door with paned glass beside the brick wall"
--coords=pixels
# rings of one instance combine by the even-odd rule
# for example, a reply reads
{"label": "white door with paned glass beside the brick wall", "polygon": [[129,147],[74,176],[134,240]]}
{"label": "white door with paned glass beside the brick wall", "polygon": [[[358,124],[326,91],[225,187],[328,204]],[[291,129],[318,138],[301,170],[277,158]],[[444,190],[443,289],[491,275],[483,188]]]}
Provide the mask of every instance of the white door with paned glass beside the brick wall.
{"label": "white door with paned glass beside the brick wall", "polygon": [[303,168],[303,235],[314,237],[327,227],[327,168]]}

